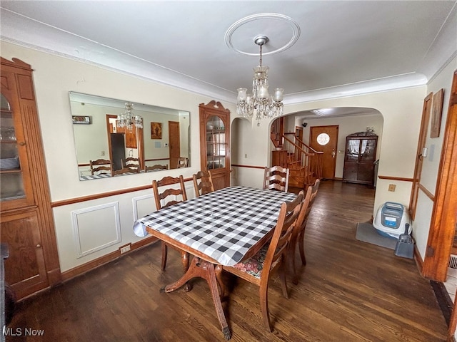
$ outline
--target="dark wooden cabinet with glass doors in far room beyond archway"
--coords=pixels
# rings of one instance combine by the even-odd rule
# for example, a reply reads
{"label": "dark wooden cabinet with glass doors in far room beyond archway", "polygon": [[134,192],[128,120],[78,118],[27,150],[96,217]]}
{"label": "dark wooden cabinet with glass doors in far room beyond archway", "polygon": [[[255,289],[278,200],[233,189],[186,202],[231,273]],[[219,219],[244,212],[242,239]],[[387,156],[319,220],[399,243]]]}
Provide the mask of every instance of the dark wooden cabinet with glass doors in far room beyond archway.
{"label": "dark wooden cabinet with glass doors in far room beyond archway", "polygon": [[346,137],[343,182],[373,186],[377,143],[378,135],[370,132],[353,133]]}

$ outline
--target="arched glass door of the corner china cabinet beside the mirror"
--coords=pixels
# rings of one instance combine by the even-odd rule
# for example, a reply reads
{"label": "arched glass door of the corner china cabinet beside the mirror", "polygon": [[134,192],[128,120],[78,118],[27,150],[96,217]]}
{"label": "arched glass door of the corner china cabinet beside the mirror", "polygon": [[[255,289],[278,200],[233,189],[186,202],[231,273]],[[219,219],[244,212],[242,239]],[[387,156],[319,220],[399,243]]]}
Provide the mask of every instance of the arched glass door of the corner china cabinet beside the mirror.
{"label": "arched glass door of the corner china cabinet beside the mirror", "polygon": [[226,128],[217,115],[209,116],[206,123],[207,169],[226,167]]}

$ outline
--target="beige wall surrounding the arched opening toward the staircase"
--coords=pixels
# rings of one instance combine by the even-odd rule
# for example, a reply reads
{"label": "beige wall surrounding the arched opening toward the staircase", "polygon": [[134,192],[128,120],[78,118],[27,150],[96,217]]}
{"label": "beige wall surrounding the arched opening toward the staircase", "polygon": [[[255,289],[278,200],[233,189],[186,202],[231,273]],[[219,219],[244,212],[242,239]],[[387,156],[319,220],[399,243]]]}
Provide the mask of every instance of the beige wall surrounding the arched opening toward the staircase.
{"label": "beige wall surrounding the arched opening toward the staircase", "polygon": [[[378,110],[383,117],[382,140],[378,146],[380,159],[378,175],[390,177],[412,178],[414,160],[418,140],[418,131],[421,125],[422,101],[426,95],[426,86],[391,90],[368,95],[358,95],[346,98],[315,101],[286,105],[285,114],[296,113],[301,110],[331,107],[360,107]],[[239,155],[246,151],[259,151],[252,158],[241,160],[239,164],[268,165],[269,152],[265,146],[269,146],[269,125],[273,121],[263,120],[259,127],[253,125],[238,125],[238,136],[249,137],[249,143],[241,147]],[[235,133],[233,133],[235,134]],[[255,139],[254,137],[263,137]],[[233,163],[236,163],[232,160]],[[261,170],[238,170],[237,181],[241,184],[249,182],[247,177],[261,177]],[[396,185],[396,192],[388,192],[388,184]],[[376,187],[375,206],[377,208],[387,201],[400,202],[408,205],[411,193],[411,182],[391,180],[378,180]]]}

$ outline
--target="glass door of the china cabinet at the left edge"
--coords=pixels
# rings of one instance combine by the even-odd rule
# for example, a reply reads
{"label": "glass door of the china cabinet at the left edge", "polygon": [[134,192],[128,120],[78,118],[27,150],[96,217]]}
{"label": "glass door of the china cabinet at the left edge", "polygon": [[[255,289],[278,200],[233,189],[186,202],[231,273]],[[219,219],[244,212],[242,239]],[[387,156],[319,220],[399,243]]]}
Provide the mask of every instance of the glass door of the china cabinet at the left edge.
{"label": "glass door of the china cabinet at the left edge", "polygon": [[1,202],[26,197],[24,174],[21,170],[14,113],[1,95],[0,112],[0,200]]}

